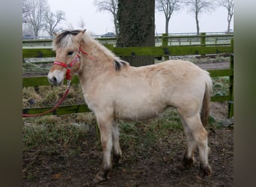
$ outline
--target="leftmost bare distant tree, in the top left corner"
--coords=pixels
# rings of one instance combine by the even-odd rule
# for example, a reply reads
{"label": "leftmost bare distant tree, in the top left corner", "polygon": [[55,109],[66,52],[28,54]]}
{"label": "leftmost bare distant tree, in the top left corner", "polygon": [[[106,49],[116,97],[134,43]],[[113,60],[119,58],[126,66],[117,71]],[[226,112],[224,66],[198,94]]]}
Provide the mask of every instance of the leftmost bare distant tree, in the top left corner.
{"label": "leftmost bare distant tree, in the top left corner", "polygon": [[34,31],[34,36],[38,37],[38,33],[44,27],[44,15],[49,11],[46,0],[28,0],[29,13],[25,22],[30,25]]}

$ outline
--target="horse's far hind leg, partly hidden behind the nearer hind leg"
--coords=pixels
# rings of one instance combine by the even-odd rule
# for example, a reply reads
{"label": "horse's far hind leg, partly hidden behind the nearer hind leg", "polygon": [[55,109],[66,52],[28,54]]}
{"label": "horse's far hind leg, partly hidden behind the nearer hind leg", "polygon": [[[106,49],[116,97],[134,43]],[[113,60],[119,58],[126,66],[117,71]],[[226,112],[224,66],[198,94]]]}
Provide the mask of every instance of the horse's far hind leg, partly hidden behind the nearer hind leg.
{"label": "horse's far hind leg, partly hidden behind the nearer hind leg", "polygon": [[190,168],[195,163],[194,150],[197,147],[197,144],[182,116],[180,116],[180,120],[186,135],[186,151],[182,161],[182,168]]}

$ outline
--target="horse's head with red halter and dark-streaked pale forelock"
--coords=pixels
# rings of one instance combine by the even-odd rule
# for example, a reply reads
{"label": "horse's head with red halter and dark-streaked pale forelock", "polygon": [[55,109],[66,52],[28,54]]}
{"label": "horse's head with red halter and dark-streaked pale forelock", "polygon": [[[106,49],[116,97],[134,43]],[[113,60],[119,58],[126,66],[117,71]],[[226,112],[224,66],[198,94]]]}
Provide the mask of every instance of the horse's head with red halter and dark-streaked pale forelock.
{"label": "horse's head with red halter and dark-streaked pale forelock", "polygon": [[79,71],[80,43],[84,31],[63,31],[55,34],[53,49],[56,52],[55,61],[48,73],[48,80],[52,85],[61,85],[64,79],[70,80]]}

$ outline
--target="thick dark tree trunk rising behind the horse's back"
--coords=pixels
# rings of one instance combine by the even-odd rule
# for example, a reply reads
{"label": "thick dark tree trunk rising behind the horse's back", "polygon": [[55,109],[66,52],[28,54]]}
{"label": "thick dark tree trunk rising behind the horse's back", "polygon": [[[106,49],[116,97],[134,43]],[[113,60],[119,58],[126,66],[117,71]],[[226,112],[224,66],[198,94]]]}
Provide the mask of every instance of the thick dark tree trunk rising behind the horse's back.
{"label": "thick dark tree trunk rising behind the horse's back", "polygon": [[[118,47],[155,46],[155,1],[118,1]],[[154,64],[154,56],[121,57],[132,66]]]}

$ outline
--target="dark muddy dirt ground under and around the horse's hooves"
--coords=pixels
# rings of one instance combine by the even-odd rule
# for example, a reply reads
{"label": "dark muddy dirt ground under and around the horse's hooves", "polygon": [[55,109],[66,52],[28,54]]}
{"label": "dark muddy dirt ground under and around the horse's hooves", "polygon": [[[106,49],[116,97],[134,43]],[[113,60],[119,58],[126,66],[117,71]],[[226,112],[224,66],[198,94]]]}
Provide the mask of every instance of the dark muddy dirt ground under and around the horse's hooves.
{"label": "dark muddy dirt ground under and around the horse's hooves", "polygon": [[61,145],[47,151],[24,150],[22,186],[234,186],[234,129],[220,125],[226,120],[227,111],[227,102],[211,102],[210,113],[219,126],[207,126],[209,162],[213,170],[210,177],[197,177],[198,152],[192,168],[185,171],[177,168],[186,142],[184,133],[177,130],[147,148],[134,149],[121,144],[121,165],[109,172],[109,180],[94,184],[92,180],[102,159],[94,124],[86,141],[73,145],[74,154]]}

